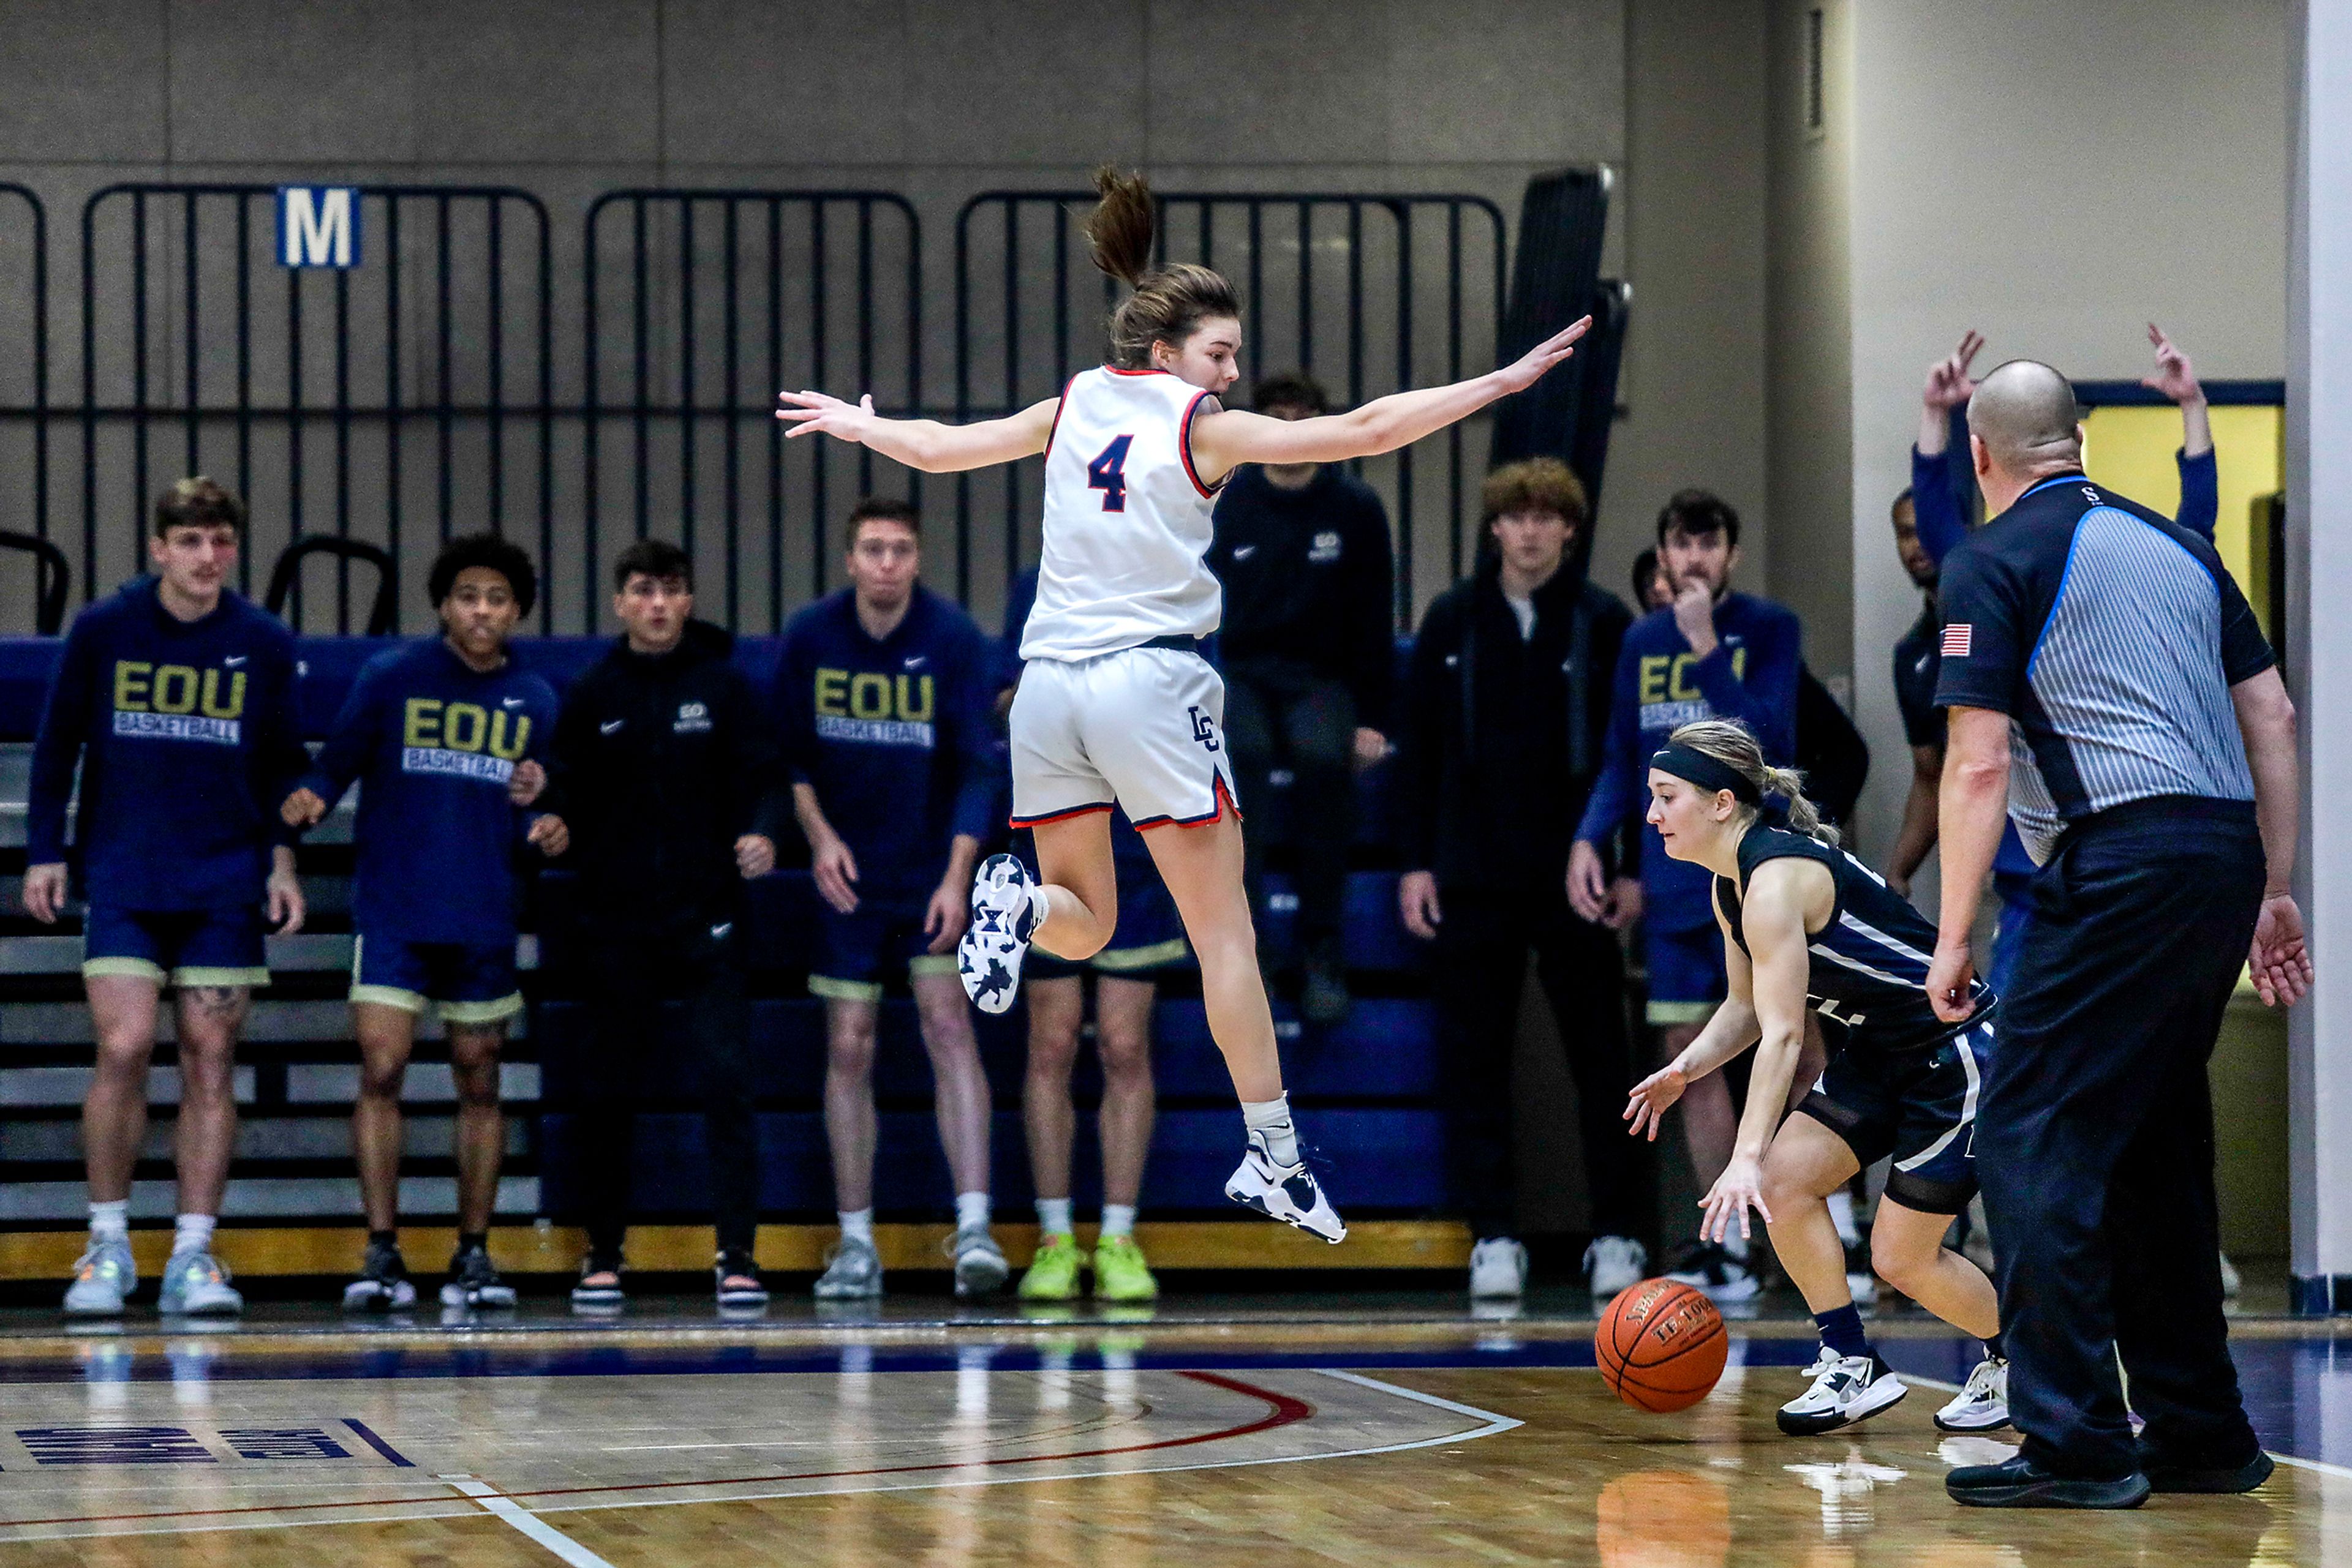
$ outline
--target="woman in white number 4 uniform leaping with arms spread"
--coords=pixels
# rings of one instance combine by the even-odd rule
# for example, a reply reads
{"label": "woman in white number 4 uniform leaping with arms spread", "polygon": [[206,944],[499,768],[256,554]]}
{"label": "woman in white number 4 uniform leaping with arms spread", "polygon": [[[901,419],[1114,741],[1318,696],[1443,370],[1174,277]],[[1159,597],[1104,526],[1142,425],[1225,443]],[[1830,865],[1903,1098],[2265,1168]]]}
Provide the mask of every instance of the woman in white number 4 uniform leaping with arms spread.
{"label": "woman in white number 4 uniform leaping with arms spread", "polygon": [[985,1013],[1014,1001],[1037,943],[1087,959],[1110,940],[1117,877],[1110,806],[1145,832],[1200,957],[1209,1032],[1242,1098],[1249,1152],[1225,1197],[1341,1241],[1282,1091],[1275,1025],[1242,891],[1242,830],[1225,759],[1225,686],[1195,649],[1218,625],[1202,555],[1216,487],[1240,463],[1343,463],[1395,451],[1534,386],[1588,320],[1472,381],[1392,393],[1350,414],[1279,421],[1223,409],[1240,374],[1242,306],[1218,273],[1150,268],[1152,193],[1098,169],[1087,219],[1094,263],[1134,294],[1110,315],[1110,362],[1061,397],[971,425],[880,418],[823,393],[781,393],[793,435],[858,442],[924,473],[1044,454],[1044,562],[1021,637],[1028,675],[1011,710],[1014,825],[1037,835],[1033,879],[1014,856],[981,865],[957,964]]}

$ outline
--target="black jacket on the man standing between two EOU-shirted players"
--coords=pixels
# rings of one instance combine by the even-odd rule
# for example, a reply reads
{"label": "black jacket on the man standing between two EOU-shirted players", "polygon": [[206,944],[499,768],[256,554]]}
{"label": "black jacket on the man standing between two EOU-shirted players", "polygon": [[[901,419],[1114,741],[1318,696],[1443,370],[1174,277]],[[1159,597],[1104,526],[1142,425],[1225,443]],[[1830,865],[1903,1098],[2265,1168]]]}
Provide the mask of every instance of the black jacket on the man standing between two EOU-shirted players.
{"label": "black jacket on the man standing between two EOU-shirted players", "polygon": [[616,642],[572,682],[548,788],[583,912],[628,926],[734,919],[734,842],[790,823],[776,724],[708,621],[668,654]]}

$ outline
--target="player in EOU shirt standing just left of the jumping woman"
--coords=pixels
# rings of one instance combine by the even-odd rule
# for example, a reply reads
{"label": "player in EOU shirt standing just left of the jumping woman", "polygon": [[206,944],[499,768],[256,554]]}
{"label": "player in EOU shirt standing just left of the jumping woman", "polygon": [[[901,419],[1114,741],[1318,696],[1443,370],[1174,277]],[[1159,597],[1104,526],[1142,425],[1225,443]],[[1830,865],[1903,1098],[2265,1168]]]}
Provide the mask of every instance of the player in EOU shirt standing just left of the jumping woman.
{"label": "player in EOU shirt standing just left of the jumping woman", "polygon": [[842,1218],[816,1281],[826,1300],[882,1293],[873,1070],[882,983],[896,971],[915,992],[955,1178],[955,1291],[985,1295],[1007,1274],[988,1232],[988,1077],[955,976],[995,809],[995,654],[971,616],[915,581],[917,527],[906,501],[858,503],[849,588],[793,616],[776,677],[793,811],[823,900],[809,990],[826,999],[826,1133]]}

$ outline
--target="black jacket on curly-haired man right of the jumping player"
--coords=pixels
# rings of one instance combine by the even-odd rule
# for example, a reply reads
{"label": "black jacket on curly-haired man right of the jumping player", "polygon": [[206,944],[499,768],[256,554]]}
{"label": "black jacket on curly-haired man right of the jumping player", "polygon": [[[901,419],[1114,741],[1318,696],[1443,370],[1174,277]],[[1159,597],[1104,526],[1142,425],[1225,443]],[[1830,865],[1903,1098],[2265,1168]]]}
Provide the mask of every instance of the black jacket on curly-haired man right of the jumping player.
{"label": "black jacket on curly-haired man right of the jumping player", "polygon": [[1404,696],[1409,867],[1446,886],[1562,886],[1628,625],[1625,604],[1571,559],[1536,590],[1522,639],[1491,550],[1430,604]]}

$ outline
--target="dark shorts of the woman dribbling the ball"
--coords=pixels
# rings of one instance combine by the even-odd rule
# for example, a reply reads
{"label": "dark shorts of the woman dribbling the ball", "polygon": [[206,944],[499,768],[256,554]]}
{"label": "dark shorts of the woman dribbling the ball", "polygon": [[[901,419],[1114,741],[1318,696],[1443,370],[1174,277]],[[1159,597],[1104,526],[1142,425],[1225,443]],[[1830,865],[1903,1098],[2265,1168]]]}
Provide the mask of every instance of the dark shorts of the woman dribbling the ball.
{"label": "dark shorts of the woman dribbling the ball", "polygon": [[1976,1098],[1990,1065],[1990,1020],[1931,1051],[1846,1048],[1797,1110],[1844,1138],[1863,1168],[1891,1154],[1893,1201],[1959,1213],[1976,1197]]}

